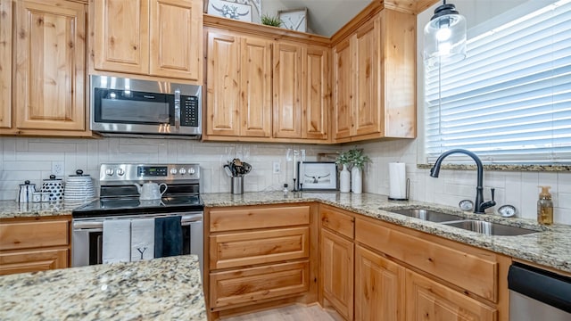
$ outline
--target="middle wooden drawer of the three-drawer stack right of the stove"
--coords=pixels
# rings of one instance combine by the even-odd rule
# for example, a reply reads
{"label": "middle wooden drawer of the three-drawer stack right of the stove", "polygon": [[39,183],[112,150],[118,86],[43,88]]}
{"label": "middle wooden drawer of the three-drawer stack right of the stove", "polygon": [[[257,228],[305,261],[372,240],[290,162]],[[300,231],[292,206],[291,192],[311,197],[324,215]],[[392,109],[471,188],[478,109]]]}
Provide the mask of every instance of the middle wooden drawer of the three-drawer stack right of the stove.
{"label": "middle wooden drawer of the three-drawer stack right of the stove", "polygon": [[211,269],[309,257],[309,227],[210,236]]}

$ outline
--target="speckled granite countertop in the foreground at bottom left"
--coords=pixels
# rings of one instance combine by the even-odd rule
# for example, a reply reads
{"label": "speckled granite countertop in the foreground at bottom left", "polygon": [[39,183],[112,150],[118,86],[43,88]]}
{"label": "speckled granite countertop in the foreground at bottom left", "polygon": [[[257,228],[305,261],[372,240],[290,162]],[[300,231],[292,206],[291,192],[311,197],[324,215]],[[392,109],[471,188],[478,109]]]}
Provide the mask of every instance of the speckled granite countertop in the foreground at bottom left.
{"label": "speckled granite countertop in the foreground at bottom left", "polygon": [[195,255],[0,276],[1,320],[206,320]]}

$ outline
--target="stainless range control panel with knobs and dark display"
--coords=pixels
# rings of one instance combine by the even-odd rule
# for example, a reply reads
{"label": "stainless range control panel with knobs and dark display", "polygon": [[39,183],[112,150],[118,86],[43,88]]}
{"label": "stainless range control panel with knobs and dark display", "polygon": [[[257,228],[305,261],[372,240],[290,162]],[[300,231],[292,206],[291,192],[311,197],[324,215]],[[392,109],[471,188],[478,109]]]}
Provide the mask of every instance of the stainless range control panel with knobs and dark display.
{"label": "stainless range control panel with knobs and dark display", "polygon": [[199,164],[101,164],[99,181],[199,180]]}

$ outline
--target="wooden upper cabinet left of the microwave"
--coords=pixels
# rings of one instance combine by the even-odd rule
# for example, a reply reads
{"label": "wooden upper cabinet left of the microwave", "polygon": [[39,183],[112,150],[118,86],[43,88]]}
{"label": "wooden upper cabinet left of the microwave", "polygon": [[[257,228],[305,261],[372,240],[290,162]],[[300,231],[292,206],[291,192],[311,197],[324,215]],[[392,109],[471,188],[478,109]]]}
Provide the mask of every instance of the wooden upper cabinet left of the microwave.
{"label": "wooden upper cabinet left of the microwave", "polygon": [[0,134],[91,136],[85,103],[87,5],[3,0],[1,6]]}

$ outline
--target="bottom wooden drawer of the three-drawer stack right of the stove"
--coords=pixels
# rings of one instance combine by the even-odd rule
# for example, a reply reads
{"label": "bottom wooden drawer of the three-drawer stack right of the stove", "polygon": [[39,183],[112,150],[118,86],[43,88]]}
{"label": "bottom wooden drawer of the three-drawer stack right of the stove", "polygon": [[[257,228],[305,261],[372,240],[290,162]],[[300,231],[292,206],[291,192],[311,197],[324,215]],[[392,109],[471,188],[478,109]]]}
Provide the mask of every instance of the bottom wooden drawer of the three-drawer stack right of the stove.
{"label": "bottom wooden drawer of the three-drawer stack right of the stove", "polygon": [[309,289],[309,262],[211,274],[211,309],[301,294]]}

